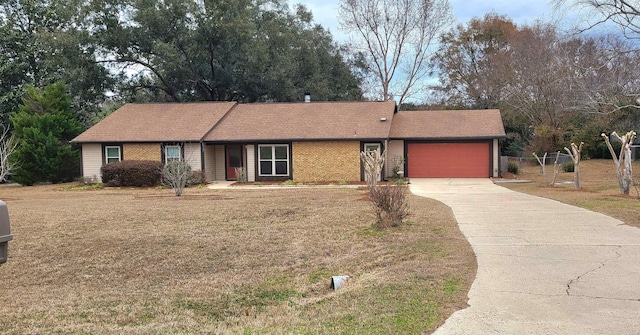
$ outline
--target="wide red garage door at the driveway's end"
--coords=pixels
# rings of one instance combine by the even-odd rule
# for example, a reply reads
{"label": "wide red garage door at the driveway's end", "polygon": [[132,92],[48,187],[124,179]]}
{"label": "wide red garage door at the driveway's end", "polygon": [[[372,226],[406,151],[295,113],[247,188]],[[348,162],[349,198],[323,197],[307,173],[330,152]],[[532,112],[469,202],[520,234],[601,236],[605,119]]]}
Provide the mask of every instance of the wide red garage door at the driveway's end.
{"label": "wide red garage door at the driveway's end", "polygon": [[489,143],[410,143],[408,175],[414,178],[488,178]]}

